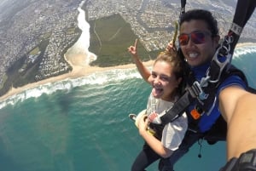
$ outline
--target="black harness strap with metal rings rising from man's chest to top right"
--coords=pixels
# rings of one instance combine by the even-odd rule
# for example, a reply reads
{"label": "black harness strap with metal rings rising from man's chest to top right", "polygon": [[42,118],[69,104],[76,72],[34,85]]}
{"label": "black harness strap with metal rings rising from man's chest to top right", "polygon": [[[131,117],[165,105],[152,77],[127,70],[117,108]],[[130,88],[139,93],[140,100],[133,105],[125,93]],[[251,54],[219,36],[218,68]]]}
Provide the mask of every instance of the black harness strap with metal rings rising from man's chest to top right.
{"label": "black harness strap with metal rings rising from man's chest to top right", "polygon": [[[207,72],[207,77],[202,78],[202,81],[207,82],[205,87],[204,85],[202,86],[202,89],[208,97],[207,100],[203,100],[203,103],[200,103],[199,105],[202,104],[201,109],[206,111],[207,114],[211,113],[212,106],[216,102],[216,95],[212,89],[216,89],[218,84],[226,78],[227,72],[229,72],[231,67],[232,55],[236,47],[236,43],[238,42],[241,31],[246,25],[247,20],[249,20],[251,14],[253,14],[255,5],[255,0],[238,0],[236,4],[236,13],[230,31],[213,56],[211,66]],[[247,82],[244,75],[242,78]]]}

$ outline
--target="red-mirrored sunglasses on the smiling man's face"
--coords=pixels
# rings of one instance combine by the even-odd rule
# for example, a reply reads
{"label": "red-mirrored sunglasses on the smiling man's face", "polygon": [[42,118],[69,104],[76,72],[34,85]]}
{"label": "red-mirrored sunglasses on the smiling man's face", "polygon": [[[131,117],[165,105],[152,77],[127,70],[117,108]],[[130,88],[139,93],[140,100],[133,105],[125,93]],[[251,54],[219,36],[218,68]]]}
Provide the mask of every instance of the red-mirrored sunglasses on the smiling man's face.
{"label": "red-mirrored sunglasses on the smiling man's face", "polygon": [[206,42],[206,36],[211,36],[211,33],[207,31],[194,31],[189,34],[181,34],[178,37],[178,42],[181,46],[187,45],[189,39],[195,44],[201,44]]}

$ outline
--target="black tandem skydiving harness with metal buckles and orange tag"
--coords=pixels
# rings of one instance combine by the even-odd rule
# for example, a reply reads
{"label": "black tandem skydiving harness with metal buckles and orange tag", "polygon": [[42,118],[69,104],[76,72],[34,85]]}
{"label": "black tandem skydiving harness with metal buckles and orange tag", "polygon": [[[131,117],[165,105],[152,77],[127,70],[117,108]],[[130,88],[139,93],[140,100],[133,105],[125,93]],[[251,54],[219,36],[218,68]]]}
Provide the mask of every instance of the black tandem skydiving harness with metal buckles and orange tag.
{"label": "black tandem skydiving harness with metal buckles and orange tag", "polygon": [[[185,3],[186,1],[182,0],[181,15],[184,13]],[[230,75],[238,75],[247,83],[246,77],[242,71],[231,65],[231,60],[241,31],[251,14],[253,14],[255,5],[255,0],[237,1],[236,13],[233,23],[230,26],[230,31],[228,35],[224,37],[224,42],[214,54],[206,77],[202,77],[201,82],[193,81],[192,84],[185,89],[183,95],[172,108],[166,110],[166,114],[160,117],[161,123],[166,124],[174,121],[194,102],[196,102],[197,105],[195,110],[191,112],[191,115],[195,120],[199,119],[201,115],[209,115],[212,111],[212,107],[216,103],[216,91],[214,90]],[[256,90],[253,88],[248,87],[247,90],[256,93]]]}

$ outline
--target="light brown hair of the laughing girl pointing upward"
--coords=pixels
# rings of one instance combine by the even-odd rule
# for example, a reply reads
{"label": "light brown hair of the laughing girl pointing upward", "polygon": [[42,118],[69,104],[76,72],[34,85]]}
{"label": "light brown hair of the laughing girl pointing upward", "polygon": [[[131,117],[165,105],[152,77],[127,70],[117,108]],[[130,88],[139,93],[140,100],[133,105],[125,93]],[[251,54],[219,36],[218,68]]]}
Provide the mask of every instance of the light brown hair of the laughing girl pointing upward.
{"label": "light brown hair of the laughing girl pointing upward", "polygon": [[182,83],[179,84],[179,86],[174,90],[172,93],[172,97],[175,97],[176,95],[181,95],[183,92],[183,61],[177,56],[176,51],[172,52],[162,52],[160,53],[156,60],[154,60],[154,64],[158,61],[165,61],[167,64],[170,64],[172,66],[172,74],[174,74],[176,80],[178,78],[182,78]]}

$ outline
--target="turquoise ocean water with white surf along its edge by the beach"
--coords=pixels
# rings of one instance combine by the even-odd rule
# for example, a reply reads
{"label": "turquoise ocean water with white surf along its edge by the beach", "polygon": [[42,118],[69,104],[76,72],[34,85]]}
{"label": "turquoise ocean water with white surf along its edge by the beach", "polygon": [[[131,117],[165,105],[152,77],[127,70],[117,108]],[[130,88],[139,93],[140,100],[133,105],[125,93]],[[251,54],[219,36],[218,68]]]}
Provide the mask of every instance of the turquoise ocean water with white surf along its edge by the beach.
{"label": "turquoise ocean water with white surf along its edge by the beach", "polygon": [[[255,47],[237,48],[233,62],[256,87]],[[145,108],[150,87],[135,68],[27,89],[0,103],[0,170],[120,171],[143,145],[127,117]],[[195,144],[176,171],[216,171],[225,143]],[[156,164],[148,168],[156,170]]]}

